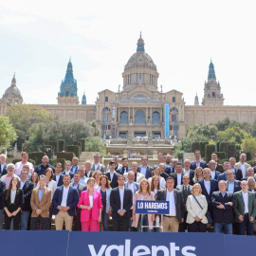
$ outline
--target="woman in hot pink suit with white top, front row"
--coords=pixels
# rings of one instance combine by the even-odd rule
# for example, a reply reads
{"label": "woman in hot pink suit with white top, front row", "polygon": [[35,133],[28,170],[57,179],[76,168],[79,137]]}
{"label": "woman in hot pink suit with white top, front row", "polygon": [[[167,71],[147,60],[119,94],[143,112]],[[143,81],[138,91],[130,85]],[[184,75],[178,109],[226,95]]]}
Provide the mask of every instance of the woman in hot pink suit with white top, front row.
{"label": "woman in hot pink suit with white top, front row", "polygon": [[101,210],[101,192],[94,190],[95,179],[93,177],[87,180],[88,190],[81,193],[78,208],[81,211],[82,231],[100,231]]}

